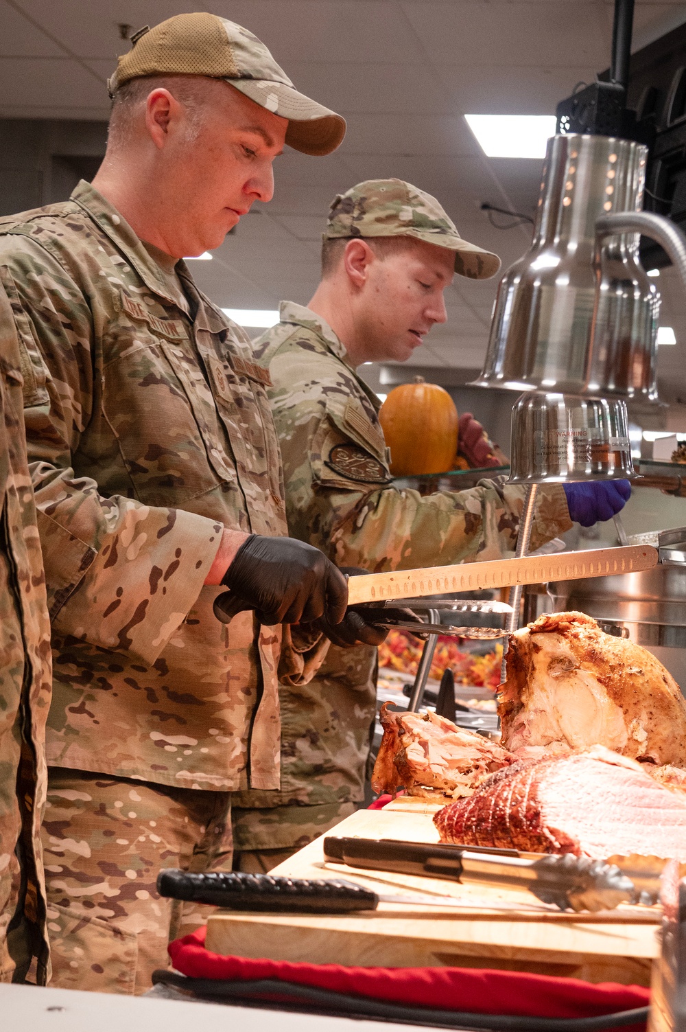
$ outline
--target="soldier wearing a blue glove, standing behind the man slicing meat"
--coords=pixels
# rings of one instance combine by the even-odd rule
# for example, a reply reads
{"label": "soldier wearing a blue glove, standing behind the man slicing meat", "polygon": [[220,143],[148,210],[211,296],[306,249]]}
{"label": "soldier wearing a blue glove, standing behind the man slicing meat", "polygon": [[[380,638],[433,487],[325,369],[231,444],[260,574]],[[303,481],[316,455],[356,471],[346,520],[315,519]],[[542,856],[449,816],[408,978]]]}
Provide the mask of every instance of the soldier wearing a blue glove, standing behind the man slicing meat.
{"label": "soldier wearing a blue glove, standing behind the man slicing meat", "polygon": [[[484,279],[498,267],[495,255],[460,237],[433,197],[399,180],[361,183],[333,201],[315,297],[308,308],[283,302],[281,321],[256,350],[272,382],[289,530],[336,563],[406,570],[497,558],[515,547],[523,488],[484,481],[421,497],[393,486],[380,402],[356,373],[366,360],[407,358],[446,320],[443,290],[453,270]],[[402,291],[424,292],[407,324]],[[465,429],[475,428],[479,442],[475,420]],[[570,526],[562,487],[542,488],[531,549]],[[316,680],[281,685],[281,792],[234,799],[236,866],[268,870],[359,806],[375,667],[374,648],[332,647]]]}

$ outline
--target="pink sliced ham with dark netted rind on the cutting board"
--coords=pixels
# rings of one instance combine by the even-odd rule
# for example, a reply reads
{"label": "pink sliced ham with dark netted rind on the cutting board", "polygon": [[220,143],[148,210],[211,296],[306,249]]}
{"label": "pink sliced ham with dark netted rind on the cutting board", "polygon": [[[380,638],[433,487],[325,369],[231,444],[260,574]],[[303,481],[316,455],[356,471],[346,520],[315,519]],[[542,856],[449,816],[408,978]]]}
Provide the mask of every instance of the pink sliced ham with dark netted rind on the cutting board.
{"label": "pink sliced ham with dark netted rind on the cutting board", "polygon": [[602,746],[514,764],[433,820],[442,842],[686,859],[686,797]]}

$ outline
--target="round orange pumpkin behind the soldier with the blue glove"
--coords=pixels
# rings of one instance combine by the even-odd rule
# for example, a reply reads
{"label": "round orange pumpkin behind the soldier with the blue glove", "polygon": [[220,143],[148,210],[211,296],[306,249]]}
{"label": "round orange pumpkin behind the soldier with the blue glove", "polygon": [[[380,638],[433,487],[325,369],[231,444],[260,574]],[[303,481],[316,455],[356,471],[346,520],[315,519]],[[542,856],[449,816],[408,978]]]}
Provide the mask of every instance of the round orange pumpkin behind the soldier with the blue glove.
{"label": "round orange pumpkin behind the soldier with the blue glove", "polygon": [[414,383],[393,388],[379,418],[395,477],[451,469],[457,451],[457,409],[443,387],[415,377]]}

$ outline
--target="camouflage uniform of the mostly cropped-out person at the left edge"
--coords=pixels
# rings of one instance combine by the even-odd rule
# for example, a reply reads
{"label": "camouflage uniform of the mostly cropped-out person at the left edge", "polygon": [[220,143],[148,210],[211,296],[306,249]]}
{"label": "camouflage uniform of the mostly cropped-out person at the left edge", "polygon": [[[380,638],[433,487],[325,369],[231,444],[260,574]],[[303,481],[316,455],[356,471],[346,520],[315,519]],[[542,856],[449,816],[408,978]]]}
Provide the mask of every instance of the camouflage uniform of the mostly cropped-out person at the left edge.
{"label": "camouflage uniform of the mostly cropped-out person at the left edge", "polygon": [[[47,963],[40,821],[45,807],[50,622],[22,416],[23,363],[0,291],[0,982]],[[13,918],[13,920],[12,920]]]}

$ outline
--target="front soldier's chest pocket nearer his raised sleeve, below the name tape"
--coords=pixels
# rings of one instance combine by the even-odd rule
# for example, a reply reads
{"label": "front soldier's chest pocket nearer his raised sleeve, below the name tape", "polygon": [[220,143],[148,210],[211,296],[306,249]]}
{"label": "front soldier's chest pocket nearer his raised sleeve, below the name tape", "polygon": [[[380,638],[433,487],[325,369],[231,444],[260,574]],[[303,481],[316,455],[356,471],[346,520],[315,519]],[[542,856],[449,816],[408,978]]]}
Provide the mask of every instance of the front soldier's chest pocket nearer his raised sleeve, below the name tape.
{"label": "front soldier's chest pocket nearer his raised sleeve, below the name tape", "polygon": [[235,482],[222,447],[204,376],[186,342],[161,341],[144,326],[103,369],[102,410],[137,497],[176,505]]}

